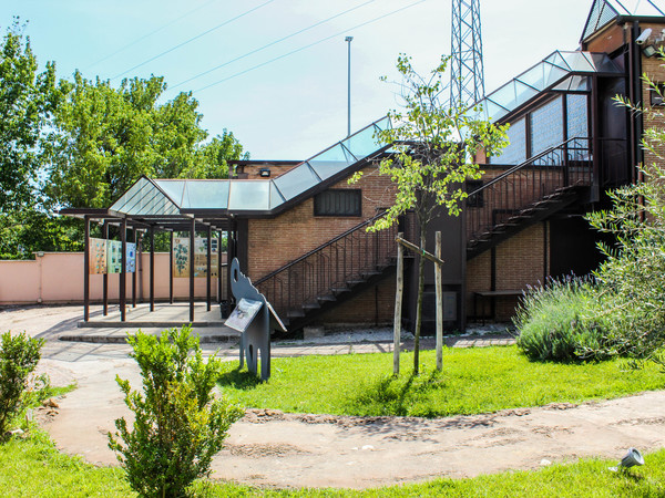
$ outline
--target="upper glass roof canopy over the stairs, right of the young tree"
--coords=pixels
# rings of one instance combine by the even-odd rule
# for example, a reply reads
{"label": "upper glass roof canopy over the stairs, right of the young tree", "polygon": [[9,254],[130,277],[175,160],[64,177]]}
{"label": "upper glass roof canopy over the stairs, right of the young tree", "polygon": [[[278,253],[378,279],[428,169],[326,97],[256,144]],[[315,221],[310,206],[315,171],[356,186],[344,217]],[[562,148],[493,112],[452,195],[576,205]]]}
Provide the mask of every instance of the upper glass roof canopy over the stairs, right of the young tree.
{"label": "upper glass roof canopy over the stairs, right of the young tree", "polygon": [[481,118],[499,121],[549,90],[587,90],[591,74],[623,74],[604,53],[555,51],[533,68],[475,103]]}

